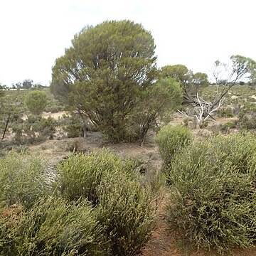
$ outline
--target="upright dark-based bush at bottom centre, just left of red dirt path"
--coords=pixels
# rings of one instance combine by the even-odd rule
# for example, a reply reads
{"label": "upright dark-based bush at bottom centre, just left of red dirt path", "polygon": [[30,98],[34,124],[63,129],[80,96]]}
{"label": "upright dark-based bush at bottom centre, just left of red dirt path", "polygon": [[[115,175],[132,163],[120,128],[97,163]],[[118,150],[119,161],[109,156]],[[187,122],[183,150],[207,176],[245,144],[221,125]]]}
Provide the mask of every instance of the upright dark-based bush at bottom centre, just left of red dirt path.
{"label": "upright dark-based bush at bottom centre, just left of red dirt path", "polygon": [[155,227],[150,191],[127,176],[105,177],[98,220],[111,240],[112,255],[139,255]]}

